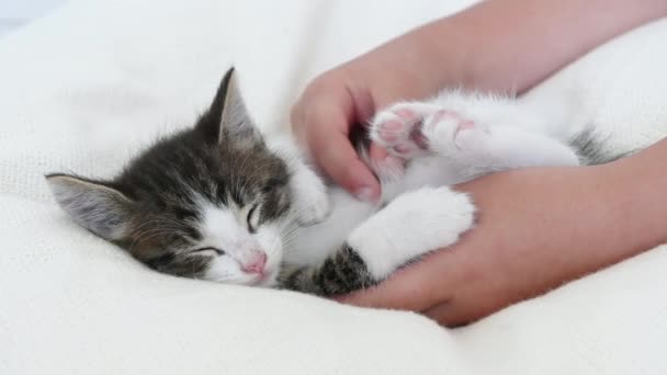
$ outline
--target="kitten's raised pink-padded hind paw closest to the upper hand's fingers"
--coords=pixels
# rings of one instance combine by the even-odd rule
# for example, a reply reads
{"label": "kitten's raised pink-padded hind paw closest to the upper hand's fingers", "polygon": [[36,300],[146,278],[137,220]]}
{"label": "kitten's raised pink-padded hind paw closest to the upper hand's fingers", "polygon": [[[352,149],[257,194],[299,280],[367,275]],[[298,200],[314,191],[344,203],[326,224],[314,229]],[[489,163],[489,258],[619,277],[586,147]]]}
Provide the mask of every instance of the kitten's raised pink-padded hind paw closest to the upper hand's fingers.
{"label": "kitten's raised pink-padded hind paw closest to the upper hand's fingers", "polygon": [[391,154],[410,159],[428,149],[421,128],[438,109],[423,103],[399,103],[380,112],[371,122],[371,139]]}

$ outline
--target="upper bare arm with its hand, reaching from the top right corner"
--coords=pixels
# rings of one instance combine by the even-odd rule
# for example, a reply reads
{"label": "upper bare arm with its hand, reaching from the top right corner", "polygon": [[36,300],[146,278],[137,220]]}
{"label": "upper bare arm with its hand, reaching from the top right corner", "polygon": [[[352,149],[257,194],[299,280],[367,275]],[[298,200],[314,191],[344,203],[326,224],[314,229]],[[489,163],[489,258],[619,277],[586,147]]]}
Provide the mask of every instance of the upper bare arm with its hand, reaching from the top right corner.
{"label": "upper bare arm with its hand, reaching from the top right corner", "polygon": [[348,134],[376,110],[452,84],[521,92],[597,45],[665,15],[664,0],[485,1],[315,79],[293,107],[294,129],[325,172],[373,198],[378,184]]}

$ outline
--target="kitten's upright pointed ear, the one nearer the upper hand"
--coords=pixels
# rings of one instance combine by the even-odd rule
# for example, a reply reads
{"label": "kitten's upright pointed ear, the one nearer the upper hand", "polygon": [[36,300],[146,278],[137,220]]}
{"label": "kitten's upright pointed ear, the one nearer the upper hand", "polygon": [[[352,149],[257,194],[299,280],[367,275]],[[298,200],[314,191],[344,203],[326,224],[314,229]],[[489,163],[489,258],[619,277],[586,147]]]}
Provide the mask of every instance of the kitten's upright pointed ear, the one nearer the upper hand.
{"label": "kitten's upright pointed ear, the one nearer the upper hand", "polygon": [[213,104],[197,125],[207,139],[237,147],[262,144],[262,136],[248,115],[246,103],[238,89],[234,68],[227,70],[217,89]]}

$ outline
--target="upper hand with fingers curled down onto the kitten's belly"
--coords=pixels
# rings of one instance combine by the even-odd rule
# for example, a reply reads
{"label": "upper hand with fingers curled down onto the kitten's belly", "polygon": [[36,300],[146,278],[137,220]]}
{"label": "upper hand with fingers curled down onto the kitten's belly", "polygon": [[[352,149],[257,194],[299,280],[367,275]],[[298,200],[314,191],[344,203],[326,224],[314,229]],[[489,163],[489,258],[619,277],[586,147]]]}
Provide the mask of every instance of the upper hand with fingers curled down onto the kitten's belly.
{"label": "upper hand with fingers curled down onto the kitten's belly", "polygon": [[[376,201],[380,184],[349,135],[376,111],[431,95],[448,82],[451,69],[442,69],[446,64],[438,58],[432,34],[428,27],[416,30],[320,75],[292,107],[294,133],[317,166],[363,201]],[[370,157],[382,162],[387,154],[372,144]]]}

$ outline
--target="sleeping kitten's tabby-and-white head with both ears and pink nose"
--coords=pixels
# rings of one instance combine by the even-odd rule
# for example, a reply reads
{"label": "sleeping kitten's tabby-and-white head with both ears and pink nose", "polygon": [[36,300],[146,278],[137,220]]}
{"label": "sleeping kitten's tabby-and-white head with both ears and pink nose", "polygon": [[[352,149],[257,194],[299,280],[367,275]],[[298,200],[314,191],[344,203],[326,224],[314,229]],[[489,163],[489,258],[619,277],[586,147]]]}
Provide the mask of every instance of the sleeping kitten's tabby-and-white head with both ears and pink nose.
{"label": "sleeping kitten's tabby-and-white head with both ears and pink nose", "polygon": [[165,273],[274,283],[290,223],[290,173],[247,114],[233,69],[196,125],[110,181],[47,175],[82,227]]}

